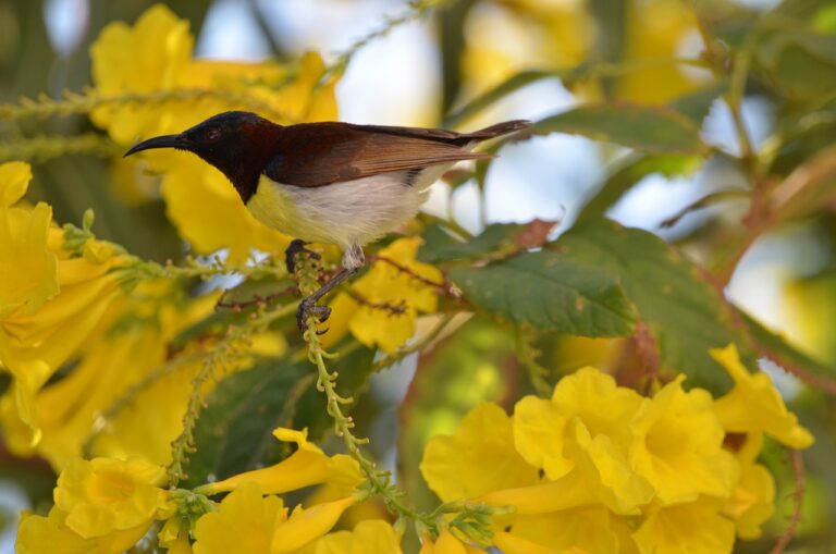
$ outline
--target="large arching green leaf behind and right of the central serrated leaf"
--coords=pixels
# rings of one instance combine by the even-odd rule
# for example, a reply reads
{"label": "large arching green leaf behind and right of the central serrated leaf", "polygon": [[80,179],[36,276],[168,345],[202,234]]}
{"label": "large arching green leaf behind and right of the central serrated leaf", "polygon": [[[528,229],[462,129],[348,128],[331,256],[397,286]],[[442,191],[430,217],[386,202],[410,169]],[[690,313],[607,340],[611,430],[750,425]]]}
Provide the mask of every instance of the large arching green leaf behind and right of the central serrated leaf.
{"label": "large arching green leaf behind and right of the central serrated leaf", "polygon": [[[606,272],[636,305],[655,340],[663,369],[691,377],[691,385],[728,387],[709,348],[746,342],[714,286],[679,251],[657,236],[607,220],[579,223],[556,243],[562,256]],[[746,354],[746,353],[745,353]],[[748,353],[746,361],[753,365]]]}

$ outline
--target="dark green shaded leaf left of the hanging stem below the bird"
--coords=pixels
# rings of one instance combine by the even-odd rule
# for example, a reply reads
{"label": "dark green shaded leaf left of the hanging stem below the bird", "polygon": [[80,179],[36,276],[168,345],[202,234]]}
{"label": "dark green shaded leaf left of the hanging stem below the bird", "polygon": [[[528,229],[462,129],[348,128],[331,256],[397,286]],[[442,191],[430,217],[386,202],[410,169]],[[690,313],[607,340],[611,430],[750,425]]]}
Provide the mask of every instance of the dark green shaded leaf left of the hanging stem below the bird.
{"label": "dark green shaded leaf left of the hanging stem below the bird", "polygon": [[282,359],[221,381],[198,419],[197,452],[187,466],[188,480],[183,487],[278,461],[282,444],[272,431],[292,424],[296,401],[305,390],[314,389],[314,379],[315,369],[307,362]]}

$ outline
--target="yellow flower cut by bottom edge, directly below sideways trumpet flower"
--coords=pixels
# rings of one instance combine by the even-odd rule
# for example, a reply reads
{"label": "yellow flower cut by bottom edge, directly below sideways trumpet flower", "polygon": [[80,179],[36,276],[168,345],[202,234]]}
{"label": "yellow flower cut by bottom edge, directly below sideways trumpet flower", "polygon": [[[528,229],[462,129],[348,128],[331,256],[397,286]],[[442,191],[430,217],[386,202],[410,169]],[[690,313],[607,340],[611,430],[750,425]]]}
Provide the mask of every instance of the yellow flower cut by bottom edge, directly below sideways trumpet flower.
{"label": "yellow flower cut by bottom edge, directly below sideways trumpet flower", "polygon": [[287,519],[279,496],[262,496],[255,483],[244,483],[223,498],[218,512],[197,520],[195,554],[265,554],[273,533]]}

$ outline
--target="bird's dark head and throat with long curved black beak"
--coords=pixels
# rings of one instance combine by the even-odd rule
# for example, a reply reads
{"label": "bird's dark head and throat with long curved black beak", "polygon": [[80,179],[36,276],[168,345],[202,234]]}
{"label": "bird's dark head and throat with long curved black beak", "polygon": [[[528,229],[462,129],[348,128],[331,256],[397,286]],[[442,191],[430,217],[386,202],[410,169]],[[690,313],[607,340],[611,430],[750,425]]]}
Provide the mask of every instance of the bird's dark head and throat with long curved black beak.
{"label": "bird's dark head and throat with long curved black beak", "polygon": [[212,115],[177,135],[143,140],[125,156],[153,148],[174,148],[196,153],[218,168],[246,202],[258,185],[267,162],[275,156],[282,126],[255,113],[230,111]]}

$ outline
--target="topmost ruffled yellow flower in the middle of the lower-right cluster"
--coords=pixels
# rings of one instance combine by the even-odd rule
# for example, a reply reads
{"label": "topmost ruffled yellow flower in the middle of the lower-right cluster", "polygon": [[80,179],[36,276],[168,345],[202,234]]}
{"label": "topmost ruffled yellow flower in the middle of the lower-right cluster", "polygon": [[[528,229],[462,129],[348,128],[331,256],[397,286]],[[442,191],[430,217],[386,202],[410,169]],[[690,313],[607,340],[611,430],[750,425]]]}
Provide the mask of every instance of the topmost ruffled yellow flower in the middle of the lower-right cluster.
{"label": "topmost ruffled yellow flower in the middle of the lower-right cluster", "polygon": [[[630,429],[641,397],[616,386],[615,380],[594,368],[583,368],[561,379],[552,399],[526,396],[514,408],[514,444],[532,466],[542,467],[549,479],[566,475],[574,461],[565,456],[569,419],[577,418],[592,439],[605,435],[626,452]],[[606,406],[606,409],[601,409]]]}

